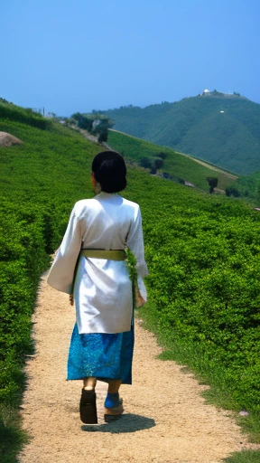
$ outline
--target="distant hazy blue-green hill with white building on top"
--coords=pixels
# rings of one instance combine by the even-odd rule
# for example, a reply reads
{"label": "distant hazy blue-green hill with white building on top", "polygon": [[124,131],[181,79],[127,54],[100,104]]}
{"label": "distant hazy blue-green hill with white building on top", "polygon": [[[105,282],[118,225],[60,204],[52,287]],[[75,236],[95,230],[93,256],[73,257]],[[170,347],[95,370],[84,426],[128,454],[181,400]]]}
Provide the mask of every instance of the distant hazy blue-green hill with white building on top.
{"label": "distant hazy blue-green hill with white building on top", "polygon": [[160,105],[105,111],[116,130],[249,175],[260,170],[260,105],[217,91]]}

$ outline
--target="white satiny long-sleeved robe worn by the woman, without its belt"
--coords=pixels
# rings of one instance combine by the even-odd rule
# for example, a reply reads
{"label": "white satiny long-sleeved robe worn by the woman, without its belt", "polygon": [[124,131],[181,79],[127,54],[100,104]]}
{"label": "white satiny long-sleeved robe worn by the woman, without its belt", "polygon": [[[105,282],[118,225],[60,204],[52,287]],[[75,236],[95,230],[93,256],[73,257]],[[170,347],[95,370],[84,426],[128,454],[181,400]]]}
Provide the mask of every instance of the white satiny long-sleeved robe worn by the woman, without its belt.
{"label": "white satiny long-sleeved robe worn by the woman, without its belt", "polygon": [[148,272],[139,205],[104,192],[74,205],[47,281],[59,291],[74,294],[79,334],[131,329],[132,282],[125,261],[79,257],[82,248],[124,250],[125,244],[135,254],[138,288],[146,300],[143,278]]}

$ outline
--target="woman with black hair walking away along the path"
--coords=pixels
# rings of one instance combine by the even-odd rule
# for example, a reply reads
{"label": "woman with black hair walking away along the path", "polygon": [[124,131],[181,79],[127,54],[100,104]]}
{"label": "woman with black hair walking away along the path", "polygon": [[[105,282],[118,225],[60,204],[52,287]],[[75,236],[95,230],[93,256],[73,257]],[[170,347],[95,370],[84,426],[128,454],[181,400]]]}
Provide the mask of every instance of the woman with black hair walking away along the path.
{"label": "woman with black hair walking away along the path", "polygon": [[53,288],[70,294],[71,305],[75,301],[68,380],[83,379],[79,411],[86,424],[98,422],[97,379],[108,383],[105,413],[112,415],[124,411],[121,383],[132,383],[133,282],[125,246],[137,262],[138,306],[146,300],[147,275],[139,206],[118,194],[126,186],[123,157],[99,153],[92,163],[92,184],[98,194],[74,205],[48,277]]}

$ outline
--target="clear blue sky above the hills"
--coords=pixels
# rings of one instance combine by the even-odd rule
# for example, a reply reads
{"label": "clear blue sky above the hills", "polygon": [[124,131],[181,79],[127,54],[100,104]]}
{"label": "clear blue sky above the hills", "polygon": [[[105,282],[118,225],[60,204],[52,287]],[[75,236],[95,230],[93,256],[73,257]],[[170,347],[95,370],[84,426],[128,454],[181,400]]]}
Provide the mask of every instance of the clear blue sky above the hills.
{"label": "clear blue sky above the hills", "polygon": [[60,116],[202,90],[260,103],[259,0],[1,0],[0,97]]}

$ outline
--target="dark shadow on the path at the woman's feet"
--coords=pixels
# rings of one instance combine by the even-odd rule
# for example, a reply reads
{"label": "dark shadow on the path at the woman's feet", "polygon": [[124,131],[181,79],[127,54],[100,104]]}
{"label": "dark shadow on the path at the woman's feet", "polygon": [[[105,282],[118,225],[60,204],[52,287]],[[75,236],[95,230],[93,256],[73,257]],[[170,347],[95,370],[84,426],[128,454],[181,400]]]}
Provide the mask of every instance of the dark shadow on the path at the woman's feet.
{"label": "dark shadow on the path at the woman's feet", "polygon": [[111,432],[119,434],[120,432],[136,432],[137,430],[149,430],[155,426],[153,418],[135,415],[134,413],[125,413],[120,417],[105,415],[105,423],[99,425],[83,425],[81,430],[87,432]]}

